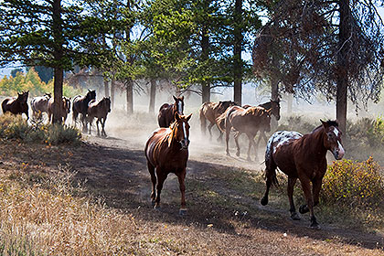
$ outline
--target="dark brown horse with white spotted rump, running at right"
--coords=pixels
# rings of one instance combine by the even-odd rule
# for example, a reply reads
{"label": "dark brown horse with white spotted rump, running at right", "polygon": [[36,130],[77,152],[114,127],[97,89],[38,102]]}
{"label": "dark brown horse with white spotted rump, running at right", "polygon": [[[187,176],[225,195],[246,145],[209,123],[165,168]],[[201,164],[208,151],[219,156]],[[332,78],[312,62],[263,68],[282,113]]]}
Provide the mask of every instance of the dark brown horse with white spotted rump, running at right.
{"label": "dark brown horse with white spotted rump, running at right", "polygon": [[[293,203],[293,187],[297,178],[302,184],[306,205],[299,208],[304,214],[310,212],[313,229],[319,229],[314,207],[319,203],[319,193],[326,171],[326,151],[329,150],[340,160],[344,156],[341,144],[341,132],[335,121],[321,121],[322,125],[312,133],[302,135],[296,132],[273,133],[265,152],[266,191],[261,198],[261,205],[268,204],[268,193],[272,184],[277,185],[276,168],[288,176],[288,198],[292,219],[300,219]],[[311,183],[312,182],[312,193]]]}

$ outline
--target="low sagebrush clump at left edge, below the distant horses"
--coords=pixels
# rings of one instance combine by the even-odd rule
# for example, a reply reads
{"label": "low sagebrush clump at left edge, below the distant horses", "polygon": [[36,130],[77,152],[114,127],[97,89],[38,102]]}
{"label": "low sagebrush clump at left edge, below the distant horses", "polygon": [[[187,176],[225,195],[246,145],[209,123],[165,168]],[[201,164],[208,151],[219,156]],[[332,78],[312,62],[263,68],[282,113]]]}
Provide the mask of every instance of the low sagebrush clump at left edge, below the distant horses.
{"label": "low sagebrush clump at left edge, below the distant horses", "polygon": [[0,116],[0,137],[25,143],[79,144],[81,133],[73,127],[60,124],[28,124],[20,115]]}

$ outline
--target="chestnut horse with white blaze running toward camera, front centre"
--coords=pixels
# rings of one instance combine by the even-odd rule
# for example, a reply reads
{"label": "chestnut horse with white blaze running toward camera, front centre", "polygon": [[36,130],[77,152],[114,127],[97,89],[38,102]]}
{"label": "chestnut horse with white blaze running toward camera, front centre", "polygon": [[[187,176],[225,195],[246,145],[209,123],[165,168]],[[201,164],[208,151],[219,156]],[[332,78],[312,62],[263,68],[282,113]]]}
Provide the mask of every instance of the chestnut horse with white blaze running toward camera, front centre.
{"label": "chestnut horse with white blaze running toward camera, front centre", "polygon": [[[175,122],[169,128],[158,128],[145,144],[145,157],[152,180],[151,199],[155,208],[160,207],[160,193],[166,176],[174,173],[178,177],[181,192],[181,208],[186,209],[186,168],[188,160],[189,124],[192,114],[188,116],[175,113]],[[156,189],[156,190],[155,190]]]}

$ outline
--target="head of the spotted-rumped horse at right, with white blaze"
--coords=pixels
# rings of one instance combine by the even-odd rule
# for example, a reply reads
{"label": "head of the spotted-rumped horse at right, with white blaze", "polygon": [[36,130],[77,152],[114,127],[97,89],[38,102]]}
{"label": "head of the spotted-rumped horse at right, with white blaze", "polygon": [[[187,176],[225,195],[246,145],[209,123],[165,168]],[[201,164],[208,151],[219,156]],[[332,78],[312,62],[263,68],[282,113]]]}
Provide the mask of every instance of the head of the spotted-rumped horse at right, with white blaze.
{"label": "head of the spotted-rumped horse at right, with white blaze", "polygon": [[320,120],[320,121],[321,123],[323,123],[323,128],[324,128],[325,148],[330,152],[332,152],[336,160],[342,159],[345,154],[345,151],[343,148],[343,144],[341,142],[342,133],[340,132],[340,130],[338,130],[338,123],[336,123],[335,121],[327,121],[327,122],[324,122],[323,120]]}

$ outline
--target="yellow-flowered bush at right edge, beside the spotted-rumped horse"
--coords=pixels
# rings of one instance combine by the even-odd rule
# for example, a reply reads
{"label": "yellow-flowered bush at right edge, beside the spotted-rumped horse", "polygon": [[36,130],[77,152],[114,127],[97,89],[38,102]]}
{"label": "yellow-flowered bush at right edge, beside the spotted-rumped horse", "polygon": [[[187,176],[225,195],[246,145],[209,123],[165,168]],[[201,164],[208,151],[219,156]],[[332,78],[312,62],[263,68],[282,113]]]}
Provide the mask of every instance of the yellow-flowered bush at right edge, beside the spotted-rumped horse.
{"label": "yellow-flowered bush at right edge, beside the spotted-rumped horse", "polygon": [[372,157],[364,162],[334,162],[324,177],[322,201],[346,208],[378,208],[384,195],[379,170]]}

